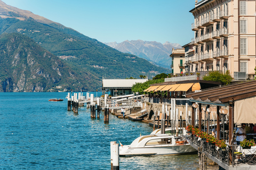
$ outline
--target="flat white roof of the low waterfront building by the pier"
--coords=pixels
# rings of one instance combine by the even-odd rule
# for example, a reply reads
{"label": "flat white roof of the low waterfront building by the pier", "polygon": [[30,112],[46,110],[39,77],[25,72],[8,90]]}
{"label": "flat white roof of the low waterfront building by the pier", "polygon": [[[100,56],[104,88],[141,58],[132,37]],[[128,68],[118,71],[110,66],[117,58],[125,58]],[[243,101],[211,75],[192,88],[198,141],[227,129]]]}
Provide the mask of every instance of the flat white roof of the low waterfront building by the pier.
{"label": "flat white roof of the low waterfront building by the pier", "polygon": [[135,83],[143,83],[148,79],[102,79],[102,88],[132,88]]}

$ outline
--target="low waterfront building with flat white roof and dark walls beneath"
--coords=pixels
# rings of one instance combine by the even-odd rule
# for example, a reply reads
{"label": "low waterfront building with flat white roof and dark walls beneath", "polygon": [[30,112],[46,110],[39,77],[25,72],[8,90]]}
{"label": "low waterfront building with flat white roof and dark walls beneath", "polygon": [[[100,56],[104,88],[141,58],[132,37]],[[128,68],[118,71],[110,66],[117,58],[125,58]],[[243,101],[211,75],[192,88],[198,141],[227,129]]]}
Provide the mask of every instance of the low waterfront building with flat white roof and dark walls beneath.
{"label": "low waterfront building with flat white roof and dark walls beneath", "polygon": [[110,92],[110,96],[123,96],[132,94],[132,86],[143,83],[148,79],[102,79],[102,95]]}

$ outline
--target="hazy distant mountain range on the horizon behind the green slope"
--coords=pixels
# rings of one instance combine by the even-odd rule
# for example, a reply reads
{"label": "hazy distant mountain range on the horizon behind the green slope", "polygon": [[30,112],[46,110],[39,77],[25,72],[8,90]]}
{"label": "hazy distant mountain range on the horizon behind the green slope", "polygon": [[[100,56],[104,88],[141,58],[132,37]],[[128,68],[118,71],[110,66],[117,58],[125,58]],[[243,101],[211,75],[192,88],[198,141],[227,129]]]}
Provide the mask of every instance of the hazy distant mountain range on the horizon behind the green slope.
{"label": "hazy distant mountain range on the horizon behind the green slope", "polygon": [[122,43],[105,43],[123,53],[130,53],[141,58],[145,58],[150,63],[170,69],[172,60],[170,54],[172,48],[181,48],[179,44],[173,44],[166,41],[164,44],[156,41],[132,40],[123,41]]}

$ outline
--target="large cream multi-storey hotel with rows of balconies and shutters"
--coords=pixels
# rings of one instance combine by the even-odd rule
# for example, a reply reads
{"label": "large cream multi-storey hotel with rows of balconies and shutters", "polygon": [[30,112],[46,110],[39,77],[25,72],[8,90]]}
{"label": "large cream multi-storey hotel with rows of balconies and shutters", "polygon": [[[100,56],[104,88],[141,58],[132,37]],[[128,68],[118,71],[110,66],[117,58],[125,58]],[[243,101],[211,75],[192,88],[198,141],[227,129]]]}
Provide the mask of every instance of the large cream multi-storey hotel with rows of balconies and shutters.
{"label": "large cream multi-storey hotel with rows of balconies and shutters", "polygon": [[255,0],[195,1],[190,10],[195,22],[193,71],[227,70],[237,76],[249,75],[255,68]]}

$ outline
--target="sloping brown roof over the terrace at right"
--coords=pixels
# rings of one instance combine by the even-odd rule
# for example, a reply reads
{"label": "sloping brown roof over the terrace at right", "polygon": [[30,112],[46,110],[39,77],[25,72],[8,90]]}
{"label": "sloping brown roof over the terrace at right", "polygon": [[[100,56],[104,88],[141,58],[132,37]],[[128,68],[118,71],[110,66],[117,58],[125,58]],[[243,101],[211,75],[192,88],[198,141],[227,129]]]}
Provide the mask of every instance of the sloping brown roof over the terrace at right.
{"label": "sloping brown roof over the terrace at right", "polygon": [[256,80],[187,94],[186,97],[202,102],[228,103],[256,96]]}

